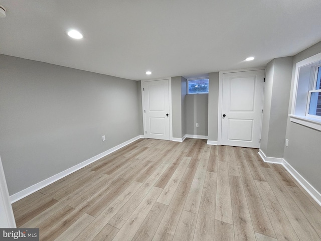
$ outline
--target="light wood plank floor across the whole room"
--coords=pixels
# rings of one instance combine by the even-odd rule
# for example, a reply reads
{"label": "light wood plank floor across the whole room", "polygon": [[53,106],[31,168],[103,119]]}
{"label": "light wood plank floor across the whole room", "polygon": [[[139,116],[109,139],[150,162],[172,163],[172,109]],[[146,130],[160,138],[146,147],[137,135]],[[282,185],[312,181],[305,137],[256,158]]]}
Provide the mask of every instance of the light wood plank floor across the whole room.
{"label": "light wood plank floor across the whole room", "polygon": [[257,149],[140,139],[13,204],[40,240],[321,240],[321,207]]}

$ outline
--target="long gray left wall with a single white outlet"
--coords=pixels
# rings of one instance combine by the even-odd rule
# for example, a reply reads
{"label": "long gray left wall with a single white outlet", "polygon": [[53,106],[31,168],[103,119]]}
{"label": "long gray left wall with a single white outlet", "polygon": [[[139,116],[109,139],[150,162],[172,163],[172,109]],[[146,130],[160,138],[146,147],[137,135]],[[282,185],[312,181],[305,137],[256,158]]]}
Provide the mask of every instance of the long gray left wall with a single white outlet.
{"label": "long gray left wall with a single white outlet", "polygon": [[11,195],[142,134],[136,81],[6,55],[0,73]]}

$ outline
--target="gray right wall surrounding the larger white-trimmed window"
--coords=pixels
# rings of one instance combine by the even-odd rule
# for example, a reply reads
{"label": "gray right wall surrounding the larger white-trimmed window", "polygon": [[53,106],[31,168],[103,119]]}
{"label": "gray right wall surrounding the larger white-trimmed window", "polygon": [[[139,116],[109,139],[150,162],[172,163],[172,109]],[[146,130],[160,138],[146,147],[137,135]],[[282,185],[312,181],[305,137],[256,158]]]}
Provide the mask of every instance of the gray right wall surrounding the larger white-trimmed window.
{"label": "gray right wall surrounding the larger white-trimmed window", "polygon": [[[292,68],[292,82],[288,113],[292,105],[295,65],[297,62],[321,53],[321,42],[303,50],[294,56]],[[287,121],[286,138],[288,147],[284,148],[284,159],[319,193],[321,193],[321,132]]]}

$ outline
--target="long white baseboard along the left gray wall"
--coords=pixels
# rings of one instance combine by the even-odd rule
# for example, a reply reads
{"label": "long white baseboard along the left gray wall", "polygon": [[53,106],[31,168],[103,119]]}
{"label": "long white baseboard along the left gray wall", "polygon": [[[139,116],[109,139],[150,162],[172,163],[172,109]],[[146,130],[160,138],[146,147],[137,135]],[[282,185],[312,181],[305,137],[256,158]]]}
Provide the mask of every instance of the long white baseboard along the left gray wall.
{"label": "long white baseboard along the left gray wall", "polygon": [[73,173],[73,172],[75,172],[75,171],[77,171],[77,170],[89,165],[90,163],[93,163],[93,162],[95,162],[95,161],[107,156],[108,154],[110,154],[110,153],[112,153],[114,151],[117,151],[118,149],[120,149],[120,148],[122,148],[122,147],[124,147],[124,146],[126,146],[126,145],[128,145],[128,144],[130,144],[130,143],[132,143],[132,142],[134,142],[134,141],[136,141],[138,139],[140,139],[140,138],[144,138],[144,136],[140,135],[140,136],[134,137],[134,138],[132,138],[132,139],[130,139],[130,140],[124,142],[124,143],[121,143],[118,146],[115,146],[115,147],[113,147],[113,148],[111,148],[111,149],[109,149],[109,150],[107,150],[107,151],[105,151],[103,153],[100,153],[100,154],[98,154],[98,155],[96,155],[96,156],[94,156],[94,157],[92,157],[92,158],[90,158],[90,159],[88,159],[88,160],[86,160],[86,161],[84,161],[82,163],[79,163],[79,164],[77,164],[77,165],[75,165],[75,166],[73,166],[71,168],[68,168],[65,171],[62,171],[62,172],[60,172],[60,173],[58,173],[58,174],[56,174],[56,175],[54,175],[52,177],[49,177],[49,178],[47,178],[47,179],[45,179],[45,180],[43,180],[41,182],[38,182],[37,184],[34,184],[34,185],[32,185],[32,186],[30,186],[30,187],[28,187],[28,188],[26,188],[26,189],[24,189],[24,190],[22,190],[20,192],[17,192],[17,193],[15,193],[15,194],[10,196],[10,201],[11,201],[11,203],[14,203],[14,202],[16,202],[16,201],[18,201],[18,200],[20,200],[20,199],[22,199],[22,198],[34,193],[34,192],[40,190],[40,189],[48,186],[49,184],[51,184],[53,182],[56,182],[59,179],[61,179],[61,178],[65,177],[65,176],[67,176],[67,175],[69,175],[69,174],[71,174],[71,173]]}

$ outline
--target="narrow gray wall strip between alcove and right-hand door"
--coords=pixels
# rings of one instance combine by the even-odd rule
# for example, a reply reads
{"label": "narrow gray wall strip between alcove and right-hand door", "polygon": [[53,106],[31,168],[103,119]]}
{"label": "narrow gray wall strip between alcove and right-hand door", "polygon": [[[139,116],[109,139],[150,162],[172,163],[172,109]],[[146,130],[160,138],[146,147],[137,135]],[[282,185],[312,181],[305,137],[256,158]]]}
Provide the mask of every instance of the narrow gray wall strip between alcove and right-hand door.
{"label": "narrow gray wall strip between alcove and right-hand door", "polygon": [[219,72],[209,73],[208,141],[217,142],[219,111]]}

